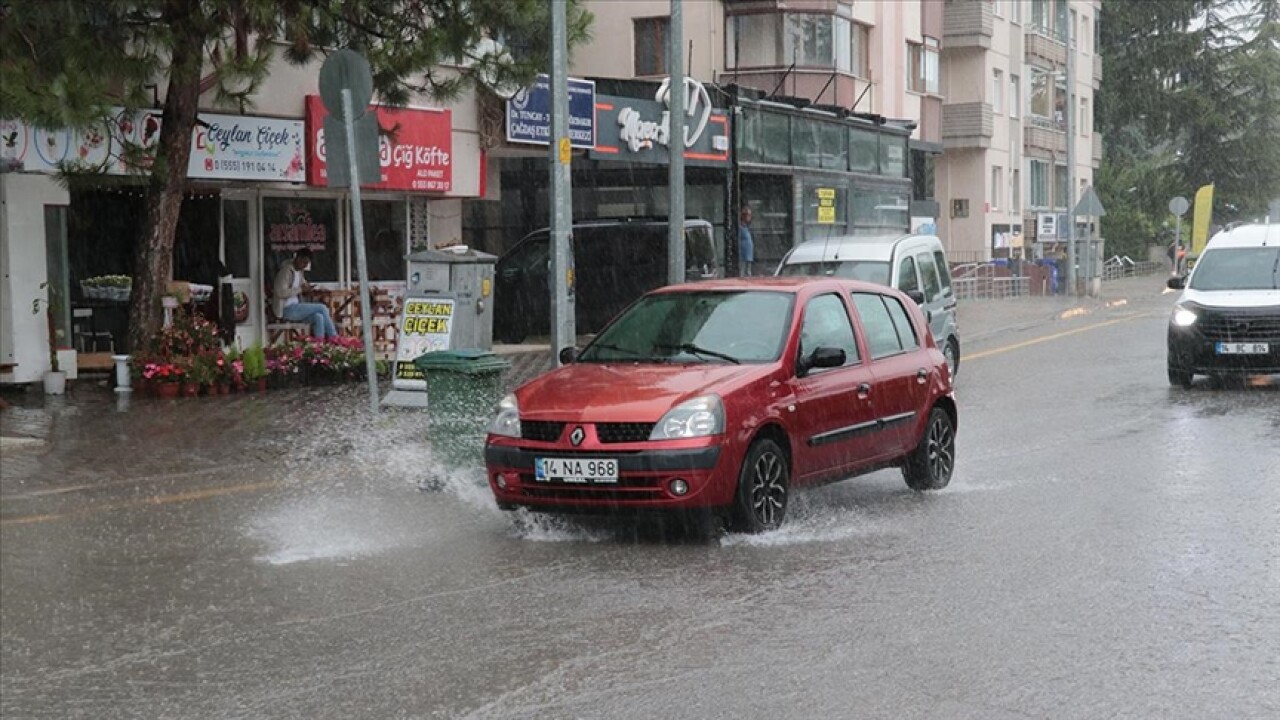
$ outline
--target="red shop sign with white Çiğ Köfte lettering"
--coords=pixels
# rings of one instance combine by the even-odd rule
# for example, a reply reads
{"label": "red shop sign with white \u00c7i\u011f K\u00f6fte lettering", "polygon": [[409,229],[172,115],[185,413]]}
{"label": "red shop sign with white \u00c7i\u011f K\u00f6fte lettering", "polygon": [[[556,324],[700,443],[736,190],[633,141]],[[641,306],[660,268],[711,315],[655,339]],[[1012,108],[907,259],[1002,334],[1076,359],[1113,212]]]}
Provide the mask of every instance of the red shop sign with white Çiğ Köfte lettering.
{"label": "red shop sign with white \u00c7i\u011f K\u00f6fte lettering", "polygon": [[[379,142],[383,181],[371,190],[449,192],[453,190],[453,113],[451,110],[390,109],[370,105],[383,132]],[[324,119],[329,111],[319,95],[307,96],[307,184],[325,186]]]}

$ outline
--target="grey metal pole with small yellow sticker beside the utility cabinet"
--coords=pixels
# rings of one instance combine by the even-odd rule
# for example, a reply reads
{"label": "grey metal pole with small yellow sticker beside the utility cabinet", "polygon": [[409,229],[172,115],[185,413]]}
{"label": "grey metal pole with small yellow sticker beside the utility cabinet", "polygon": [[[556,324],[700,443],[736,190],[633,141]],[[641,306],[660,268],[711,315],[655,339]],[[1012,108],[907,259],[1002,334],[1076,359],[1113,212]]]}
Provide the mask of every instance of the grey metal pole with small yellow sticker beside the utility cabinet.
{"label": "grey metal pole with small yellow sticker beside the utility cabinet", "polygon": [[568,138],[568,49],[563,0],[552,3],[552,137],[550,215],[552,215],[552,361],[558,366],[559,352],[577,343],[573,316],[573,195],[570,161],[573,147]]}

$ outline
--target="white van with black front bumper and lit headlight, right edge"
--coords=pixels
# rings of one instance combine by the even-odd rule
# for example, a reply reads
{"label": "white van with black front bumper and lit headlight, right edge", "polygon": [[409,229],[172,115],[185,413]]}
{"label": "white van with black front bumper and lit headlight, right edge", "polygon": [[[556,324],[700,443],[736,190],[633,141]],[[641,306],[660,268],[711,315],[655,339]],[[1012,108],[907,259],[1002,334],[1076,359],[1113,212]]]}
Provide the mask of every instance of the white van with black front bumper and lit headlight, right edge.
{"label": "white van with black front bumper and lit headlight, right edge", "polygon": [[1169,383],[1197,374],[1280,373],[1280,223],[1247,224],[1213,236],[1169,318]]}

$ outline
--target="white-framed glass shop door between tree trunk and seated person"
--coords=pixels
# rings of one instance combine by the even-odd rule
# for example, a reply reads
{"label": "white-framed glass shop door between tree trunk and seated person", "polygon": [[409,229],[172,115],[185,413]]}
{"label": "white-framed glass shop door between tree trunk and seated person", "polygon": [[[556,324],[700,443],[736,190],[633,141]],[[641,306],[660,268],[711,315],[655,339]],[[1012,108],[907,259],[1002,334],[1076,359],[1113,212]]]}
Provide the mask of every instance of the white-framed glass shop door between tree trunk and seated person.
{"label": "white-framed glass shop door between tree trunk and seated person", "polygon": [[257,193],[223,191],[221,261],[232,275],[236,342],[243,348],[262,342],[262,252]]}

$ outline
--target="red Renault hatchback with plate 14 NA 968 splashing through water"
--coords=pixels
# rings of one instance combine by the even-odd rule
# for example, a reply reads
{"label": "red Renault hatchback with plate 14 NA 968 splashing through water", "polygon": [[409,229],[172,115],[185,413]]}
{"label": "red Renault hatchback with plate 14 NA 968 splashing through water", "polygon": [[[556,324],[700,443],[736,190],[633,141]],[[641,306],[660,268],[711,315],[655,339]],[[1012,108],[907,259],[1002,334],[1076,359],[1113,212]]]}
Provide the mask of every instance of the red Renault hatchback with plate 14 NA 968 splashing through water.
{"label": "red Renault hatchback with plate 14 NA 968 splashing through water", "polygon": [[922,311],[882,286],[750,278],[650,292],[507,396],[499,507],[714,511],[777,528],[799,486],[900,466],[942,488],[956,404]]}

